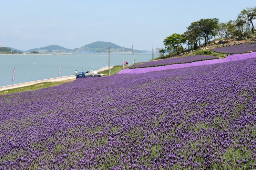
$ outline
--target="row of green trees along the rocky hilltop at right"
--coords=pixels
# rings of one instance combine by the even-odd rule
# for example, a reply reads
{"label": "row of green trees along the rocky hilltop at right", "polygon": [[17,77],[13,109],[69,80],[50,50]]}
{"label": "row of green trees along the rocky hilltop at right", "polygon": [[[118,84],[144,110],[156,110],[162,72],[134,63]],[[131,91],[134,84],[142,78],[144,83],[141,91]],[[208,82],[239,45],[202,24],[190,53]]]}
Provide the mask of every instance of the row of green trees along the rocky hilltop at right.
{"label": "row of green trees along the rocky hilltop at right", "polygon": [[183,34],[173,33],[164,39],[165,48],[156,48],[160,54],[160,58],[164,57],[164,53],[168,52],[168,57],[172,57],[189,50],[201,48],[203,45],[209,45],[211,39],[218,36],[221,39],[241,36],[242,34],[252,37],[254,32],[253,20],[256,19],[256,7],[246,8],[240,11],[235,21],[219,22],[217,18],[201,19],[192,22],[187,31]]}

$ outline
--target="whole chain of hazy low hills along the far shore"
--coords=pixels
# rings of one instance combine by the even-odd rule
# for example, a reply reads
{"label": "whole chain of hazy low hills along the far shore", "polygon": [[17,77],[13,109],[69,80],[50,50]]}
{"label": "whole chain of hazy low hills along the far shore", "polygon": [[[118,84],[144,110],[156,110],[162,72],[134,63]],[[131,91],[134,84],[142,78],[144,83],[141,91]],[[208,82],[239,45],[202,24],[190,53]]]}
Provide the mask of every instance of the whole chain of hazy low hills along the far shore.
{"label": "whole chain of hazy low hills along the far shore", "polygon": [[[109,52],[132,52],[132,48],[121,47],[111,42],[102,42],[97,41],[91,44],[84,45],[75,49],[64,48],[59,45],[49,45],[41,48],[33,48],[27,51],[22,51],[19,49],[15,49],[12,47],[0,47],[0,54],[23,54],[23,53],[31,53],[31,54],[42,54],[42,53],[104,53]],[[133,49],[136,53],[141,53],[145,51],[140,51],[137,49]]]}

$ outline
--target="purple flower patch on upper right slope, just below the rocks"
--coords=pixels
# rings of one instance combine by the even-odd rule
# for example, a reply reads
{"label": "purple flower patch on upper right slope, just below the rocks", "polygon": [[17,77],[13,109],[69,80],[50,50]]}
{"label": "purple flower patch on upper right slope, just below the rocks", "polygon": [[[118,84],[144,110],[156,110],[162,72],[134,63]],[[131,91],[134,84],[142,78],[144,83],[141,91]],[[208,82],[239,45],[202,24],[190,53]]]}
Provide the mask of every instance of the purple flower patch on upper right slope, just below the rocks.
{"label": "purple flower patch on upper right slope, just below the rocks", "polygon": [[246,53],[249,51],[256,51],[256,43],[255,42],[249,42],[239,45],[233,45],[233,46],[227,46],[227,47],[221,47],[221,48],[213,48],[212,51],[218,52],[218,53],[225,53],[225,54],[240,54],[240,53]]}

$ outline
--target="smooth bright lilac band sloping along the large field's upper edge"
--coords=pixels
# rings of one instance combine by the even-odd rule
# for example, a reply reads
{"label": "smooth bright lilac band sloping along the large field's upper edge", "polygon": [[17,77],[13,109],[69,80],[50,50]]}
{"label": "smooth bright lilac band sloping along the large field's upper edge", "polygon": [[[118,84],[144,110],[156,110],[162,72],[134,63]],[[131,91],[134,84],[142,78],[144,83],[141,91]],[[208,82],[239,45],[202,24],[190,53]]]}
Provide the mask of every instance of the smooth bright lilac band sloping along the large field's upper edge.
{"label": "smooth bright lilac band sloping along the large field's upper edge", "polygon": [[138,73],[146,73],[151,71],[161,71],[161,70],[178,69],[178,68],[185,68],[185,67],[204,66],[204,65],[212,65],[217,63],[226,63],[229,61],[243,60],[243,59],[254,58],[254,57],[256,57],[256,52],[246,53],[246,54],[232,54],[227,56],[224,59],[196,61],[193,63],[173,64],[173,65],[149,67],[149,68],[134,68],[134,69],[126,68],[118,72],[117,74],[138,74]]}

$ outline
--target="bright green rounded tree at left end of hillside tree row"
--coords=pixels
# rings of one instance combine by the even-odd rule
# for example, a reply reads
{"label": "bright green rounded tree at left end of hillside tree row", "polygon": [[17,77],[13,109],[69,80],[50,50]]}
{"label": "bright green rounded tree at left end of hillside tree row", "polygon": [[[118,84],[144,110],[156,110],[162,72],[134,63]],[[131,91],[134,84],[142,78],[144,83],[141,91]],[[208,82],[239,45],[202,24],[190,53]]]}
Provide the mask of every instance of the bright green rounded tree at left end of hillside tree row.
{"label": "bright green rounded tree at left end of hillside tree row", "polygon": [[184,42],[184,37],[181,34],[174,33],[164,39],[166,49],[171,53],[178,54],[178,47]]}

